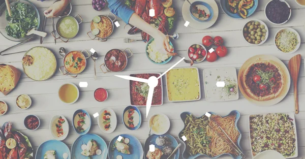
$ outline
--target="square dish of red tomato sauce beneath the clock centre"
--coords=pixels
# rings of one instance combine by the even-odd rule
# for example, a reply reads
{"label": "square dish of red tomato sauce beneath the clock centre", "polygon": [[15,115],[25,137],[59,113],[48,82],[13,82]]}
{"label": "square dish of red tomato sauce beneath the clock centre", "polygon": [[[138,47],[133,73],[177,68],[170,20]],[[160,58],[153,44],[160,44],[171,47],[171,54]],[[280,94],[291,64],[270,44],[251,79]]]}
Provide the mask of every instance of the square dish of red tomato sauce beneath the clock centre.
{"label": "square dish of red tomato sauce beneath the clock centre", "polygon": [[[159,77],[160,74],[131,74],[132,77],[148,79],[151,76]],[[130,81],[130,102],[133,106],[145,106],[147,101],[149,86],[147,83]],[[162,82],[161,78],[158,79],[158,85],[154,89],[152,106],[162,105],[163,95],[162,95]]]}

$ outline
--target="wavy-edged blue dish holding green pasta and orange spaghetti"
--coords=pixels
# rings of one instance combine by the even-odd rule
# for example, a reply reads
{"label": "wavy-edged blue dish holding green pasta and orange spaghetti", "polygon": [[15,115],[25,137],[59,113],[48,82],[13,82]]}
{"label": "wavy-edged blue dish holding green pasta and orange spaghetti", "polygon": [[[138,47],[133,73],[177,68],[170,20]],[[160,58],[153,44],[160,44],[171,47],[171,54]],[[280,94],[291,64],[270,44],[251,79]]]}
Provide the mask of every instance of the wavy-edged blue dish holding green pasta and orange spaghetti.
{"label": "wavy-edged blue dish holding green pasta and orange spaghetti", "polygon": [[[210,113],[210,114],[215,114],[214,112],[208,112],[208,113]],[[180,114],[180,117],[181,117],[181,119],[182,119],[182,121],[185,123],[185,120],[186,120],[186,117],[187,117],[187,115],[193,115],[191,112],[183,112],[183,113],[181,113]],[[215,114],[216,115],[216,114]],[[242,151],[242,149],[241,149],[241,147],[240,147],[240,145],[239,145],[239,142],[240,142],[240,139],[241,139],[241,132],[239,131],[239,129],[238,129],[238,127],[237,127],[237,122],[238,122],[238,120],[239,120],[239,118],[240,118],[240,113],[237,111],[237,110],[233,110],[233,111],[231,111],[228,115],[236,115],[236,120],[235,120],[235,127],[236,127],[236,129],[238,130],[238,132],[239,132],[239,137],[238,137],[238,139],[237,139],[237,144],[236,144],[236,146]],[[226,115],[226,116],[228,116],[228,115]],[[195,115],[194,115],[195,116]],[[202,116],[204,116],[204,115],[202,115]],[[200,117],[197,117],[197,118],[201,118],[202,116],[200,116]],[[226,116],[222,116],[222,117],[226,117]],[[186,128],[186,125],[184,126],[184,128],[182,129],[182,131],[184,130]],[[205,155],[205,154],[196,154],[196,155],[194,155],[194,156],[192,156],[192,155],[190,155],[189,153],[188,153],[188,150],[187,150],[187,147],[186,147],[186,142],[184,142],[183,140],[182,140],[182,131],[178,134],[178,138],[179,138],[179,140],[184,144],[184,147],[185,147],[185,149],[184,149],[184,151],[183,151],[183,153],[182,153],[182,157],[184,158],[184,159],[194,159],[194,158],[196,158],[196,157],[198,157],[198,156],[201,156],[201,155],[203,155],[203,156],[207,156],[207,157],[210,157],[211,159],[215,159],[215,158],[218,158],[219,156],[221,156],[221,155],[225,155],[225,154],[227,154],[227,155],[229,155],[229,156],[231,156],[232,158],[234,158],[234,159],[241,159],[242,158],[242,156],[237,156],[237,157],[235,157],[235,156],[233,156],[232,154],[229,154],[229,153],[224,153],[224,154],[220,154],[220,155],[218,155],[218,156],[215,156],[215,157],[211,157],[211,156],[208,156],[208,155]]]}

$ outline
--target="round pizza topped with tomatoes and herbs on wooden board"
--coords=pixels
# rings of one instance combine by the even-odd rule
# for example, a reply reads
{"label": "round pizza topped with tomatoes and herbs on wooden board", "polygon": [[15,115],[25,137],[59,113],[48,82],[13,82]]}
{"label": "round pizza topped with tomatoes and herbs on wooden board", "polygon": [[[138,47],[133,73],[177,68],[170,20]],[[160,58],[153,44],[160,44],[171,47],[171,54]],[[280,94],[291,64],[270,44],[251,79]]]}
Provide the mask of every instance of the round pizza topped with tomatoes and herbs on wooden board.
{"label": "round pizza topped with tomatoes and herbs on wooden board", "polygon": [[284,87],[283,70],[269,61],[255,62],[243,74],[246,94],[256,101],[277,98]]}

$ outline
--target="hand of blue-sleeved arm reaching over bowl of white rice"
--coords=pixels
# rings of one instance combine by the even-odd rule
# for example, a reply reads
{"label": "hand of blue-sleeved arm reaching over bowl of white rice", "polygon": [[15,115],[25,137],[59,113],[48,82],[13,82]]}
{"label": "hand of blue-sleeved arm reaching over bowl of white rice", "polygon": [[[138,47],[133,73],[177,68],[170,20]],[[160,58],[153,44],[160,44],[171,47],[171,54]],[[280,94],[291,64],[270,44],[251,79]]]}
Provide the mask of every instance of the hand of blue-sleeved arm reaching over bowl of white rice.
{"label": "hand of blue-sleeved arm reaching over bowl of white rice", "polygon": [[175,56],[177,53],[173,53],[169,45],[169,37],[165,36],[161,31],[158,30],[156,35],[153,35],[157,50],[161,53],[167,54],[168,56]]}

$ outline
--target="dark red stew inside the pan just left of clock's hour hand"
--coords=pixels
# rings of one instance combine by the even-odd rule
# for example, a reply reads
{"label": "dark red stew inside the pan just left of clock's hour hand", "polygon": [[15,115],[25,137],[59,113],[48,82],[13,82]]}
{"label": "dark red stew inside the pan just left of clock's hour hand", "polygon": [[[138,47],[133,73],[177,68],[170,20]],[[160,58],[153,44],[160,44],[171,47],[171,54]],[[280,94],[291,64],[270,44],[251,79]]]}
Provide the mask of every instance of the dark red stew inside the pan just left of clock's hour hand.
{"label": "dark red stew inside the pan just left of clock's hour hand", "polygon": [[127,65],[127,55],[119,49],[110,50],[105,56],[105,65],[110,71],[122,71]]}

